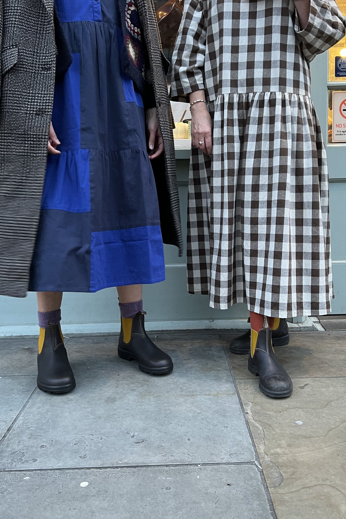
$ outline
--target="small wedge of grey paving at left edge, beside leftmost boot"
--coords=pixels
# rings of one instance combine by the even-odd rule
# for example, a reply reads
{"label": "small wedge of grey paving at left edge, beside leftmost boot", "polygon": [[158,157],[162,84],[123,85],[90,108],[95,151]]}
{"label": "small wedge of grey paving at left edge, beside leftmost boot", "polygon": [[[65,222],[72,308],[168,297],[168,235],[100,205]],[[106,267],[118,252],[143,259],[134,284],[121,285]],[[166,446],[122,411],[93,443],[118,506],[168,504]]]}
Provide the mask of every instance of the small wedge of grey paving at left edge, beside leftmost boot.
{"label": "small wedge of grey paving at left edge, beside leftmost boot", "polygon": [[36,387],[36,376],[0,376],[0,440]]}

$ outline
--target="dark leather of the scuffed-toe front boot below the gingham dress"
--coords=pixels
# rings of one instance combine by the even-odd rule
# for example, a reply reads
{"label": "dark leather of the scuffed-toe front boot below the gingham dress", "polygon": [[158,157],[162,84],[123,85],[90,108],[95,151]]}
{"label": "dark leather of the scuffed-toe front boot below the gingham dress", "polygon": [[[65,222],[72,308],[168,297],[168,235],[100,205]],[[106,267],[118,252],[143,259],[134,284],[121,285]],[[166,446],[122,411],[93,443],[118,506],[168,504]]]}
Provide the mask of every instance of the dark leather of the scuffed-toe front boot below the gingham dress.
{"label": "dark leather of the scuffed-toe front boot below the gingham dress", "polygon": [[258,332],[254,356],[248,356],[248,370],[259,376],[259,389],[268,397],[289,397],[292,380],[275,356],[271,335],[270,328]]}

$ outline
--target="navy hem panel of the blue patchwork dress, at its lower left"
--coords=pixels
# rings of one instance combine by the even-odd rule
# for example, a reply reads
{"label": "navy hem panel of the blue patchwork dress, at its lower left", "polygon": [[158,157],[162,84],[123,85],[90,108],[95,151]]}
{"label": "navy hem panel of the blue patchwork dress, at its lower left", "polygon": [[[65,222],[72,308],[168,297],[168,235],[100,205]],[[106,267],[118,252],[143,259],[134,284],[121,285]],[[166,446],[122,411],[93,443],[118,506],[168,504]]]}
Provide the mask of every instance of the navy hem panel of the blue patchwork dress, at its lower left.
{"label": "navy hem panel of the blue patchwork dress, at its lower left", "polygon": [[30,291],[89,292],[90,213],[41,211]]}

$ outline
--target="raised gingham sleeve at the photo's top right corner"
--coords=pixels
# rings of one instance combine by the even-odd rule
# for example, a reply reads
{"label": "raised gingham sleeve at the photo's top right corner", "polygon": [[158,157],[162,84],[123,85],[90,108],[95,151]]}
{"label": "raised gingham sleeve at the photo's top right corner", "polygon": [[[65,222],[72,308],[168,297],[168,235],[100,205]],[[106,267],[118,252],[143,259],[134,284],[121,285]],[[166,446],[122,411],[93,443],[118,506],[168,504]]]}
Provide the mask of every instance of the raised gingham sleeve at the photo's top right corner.
{"label": "raised gingham sleeve at the photo's top right corner", "polygon": [[333,47],[345,35],[345,21],[334,0],[311,0],[310,17],[305,29],[299,26],[296,13],[295,30],[308,62],[316,54]]}

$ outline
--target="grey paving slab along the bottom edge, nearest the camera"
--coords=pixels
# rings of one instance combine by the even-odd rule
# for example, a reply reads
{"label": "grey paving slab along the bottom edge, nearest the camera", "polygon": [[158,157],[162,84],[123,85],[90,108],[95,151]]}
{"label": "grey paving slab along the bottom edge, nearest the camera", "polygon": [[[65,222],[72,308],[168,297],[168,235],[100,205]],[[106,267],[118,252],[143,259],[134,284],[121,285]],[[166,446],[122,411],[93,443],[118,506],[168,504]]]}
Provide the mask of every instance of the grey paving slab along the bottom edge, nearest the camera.
{"label": "grey paving slab along the bottom edge, nearest the camera", "polygon": [[272,517],[253,465],[2,473],[0,493],[6,519]]}

